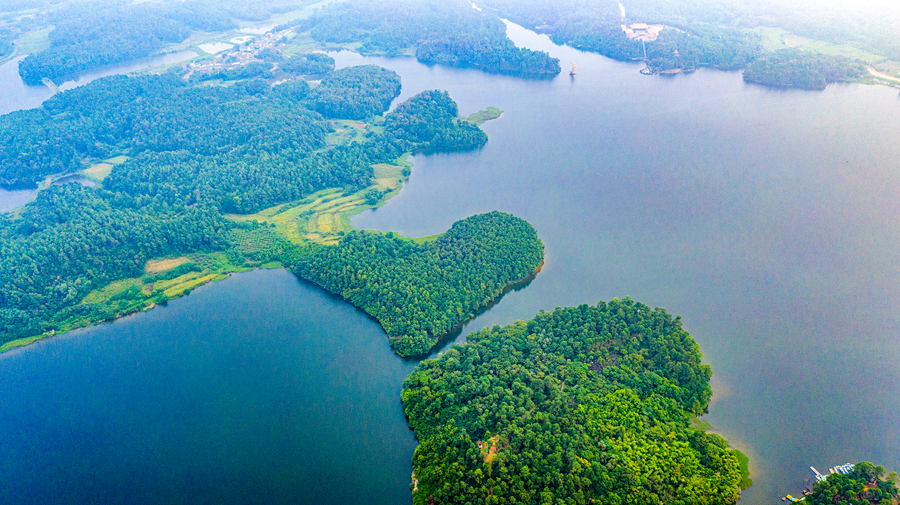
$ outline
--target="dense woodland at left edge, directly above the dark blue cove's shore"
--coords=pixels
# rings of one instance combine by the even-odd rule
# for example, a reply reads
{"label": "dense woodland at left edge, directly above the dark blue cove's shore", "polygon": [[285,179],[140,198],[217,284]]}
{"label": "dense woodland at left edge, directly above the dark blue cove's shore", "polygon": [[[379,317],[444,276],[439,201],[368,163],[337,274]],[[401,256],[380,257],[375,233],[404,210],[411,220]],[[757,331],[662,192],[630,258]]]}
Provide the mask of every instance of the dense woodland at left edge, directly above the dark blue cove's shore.
{"label": "dense woodland at left edge, directly above the dark blue cove's shore", "polygon": [[0,344],[54,329],[88,293],[141,275],[151,258],[225,246],[216,213],[148,210],[72,183],[42,191],[16,220],[0,217]]}

